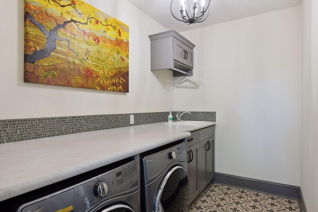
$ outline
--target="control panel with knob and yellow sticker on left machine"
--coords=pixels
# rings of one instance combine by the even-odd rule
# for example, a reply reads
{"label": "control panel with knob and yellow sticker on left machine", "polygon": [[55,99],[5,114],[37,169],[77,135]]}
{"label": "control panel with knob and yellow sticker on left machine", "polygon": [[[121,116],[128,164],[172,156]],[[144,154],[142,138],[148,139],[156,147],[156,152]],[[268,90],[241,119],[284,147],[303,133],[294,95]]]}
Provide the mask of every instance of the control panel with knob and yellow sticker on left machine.
{"label": "control panel with knob and yellow sticker on left machine", "polygon": [[127,195],[132,189],[139,189],[136,161],[25,203],[16,212],[85,212],[113,196]]}

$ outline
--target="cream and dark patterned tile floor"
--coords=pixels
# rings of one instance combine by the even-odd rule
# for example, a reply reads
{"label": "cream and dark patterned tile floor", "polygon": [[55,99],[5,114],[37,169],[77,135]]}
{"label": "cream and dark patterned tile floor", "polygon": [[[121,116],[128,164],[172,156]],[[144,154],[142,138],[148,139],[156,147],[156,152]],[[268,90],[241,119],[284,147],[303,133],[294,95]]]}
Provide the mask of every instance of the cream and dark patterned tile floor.
{"label": "cream and dark patterned tile floor", "polygon": [[300,212],[298,200],[211,183],[188,212]]}

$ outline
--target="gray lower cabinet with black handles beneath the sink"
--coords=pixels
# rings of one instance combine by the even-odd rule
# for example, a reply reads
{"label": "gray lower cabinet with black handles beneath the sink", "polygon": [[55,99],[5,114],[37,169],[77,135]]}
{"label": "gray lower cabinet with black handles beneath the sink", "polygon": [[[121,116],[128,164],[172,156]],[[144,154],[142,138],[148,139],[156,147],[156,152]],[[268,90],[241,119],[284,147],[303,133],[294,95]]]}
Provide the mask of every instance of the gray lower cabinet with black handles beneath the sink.
{"label": "gray lower cabinet with black handles beneath the sink", "polygon": [[191,132],[187,138],[190,203],[212,181],[214,168],[214,126]]}

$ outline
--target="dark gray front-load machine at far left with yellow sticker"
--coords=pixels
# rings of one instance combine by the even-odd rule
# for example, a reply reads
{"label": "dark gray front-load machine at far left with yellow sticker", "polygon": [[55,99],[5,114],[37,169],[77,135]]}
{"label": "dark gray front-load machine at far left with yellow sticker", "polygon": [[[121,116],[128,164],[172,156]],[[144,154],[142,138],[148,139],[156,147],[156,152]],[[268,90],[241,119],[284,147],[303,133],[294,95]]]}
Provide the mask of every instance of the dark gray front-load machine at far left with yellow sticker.
{"label": "dark gray front-load machine at far left with yellow sticker", "polygon": [[[115,166],[115,167],[114,167]],[[128,159],[116,165],[83,174],[76,184],[24,202],[12,212],[139,212],[137,164]],[[76,181],[79,181],[78,179]]]}

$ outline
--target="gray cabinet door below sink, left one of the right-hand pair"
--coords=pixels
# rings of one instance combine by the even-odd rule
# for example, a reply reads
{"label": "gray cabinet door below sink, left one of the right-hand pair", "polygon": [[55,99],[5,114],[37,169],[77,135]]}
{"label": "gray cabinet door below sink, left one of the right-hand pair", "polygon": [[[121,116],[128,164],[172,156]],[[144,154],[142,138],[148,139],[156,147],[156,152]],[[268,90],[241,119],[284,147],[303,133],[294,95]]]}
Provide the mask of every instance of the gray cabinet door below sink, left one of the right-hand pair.
{"label": "gray cabinet door below sink, left one of the right-hand pair", "polygon": [[200,192],[208,185],[208,140],[199,142],[200,144],[200,168],[199,168],[199,182]]}

